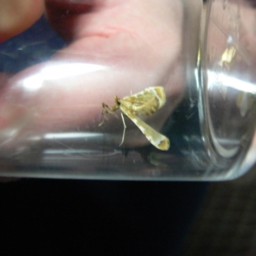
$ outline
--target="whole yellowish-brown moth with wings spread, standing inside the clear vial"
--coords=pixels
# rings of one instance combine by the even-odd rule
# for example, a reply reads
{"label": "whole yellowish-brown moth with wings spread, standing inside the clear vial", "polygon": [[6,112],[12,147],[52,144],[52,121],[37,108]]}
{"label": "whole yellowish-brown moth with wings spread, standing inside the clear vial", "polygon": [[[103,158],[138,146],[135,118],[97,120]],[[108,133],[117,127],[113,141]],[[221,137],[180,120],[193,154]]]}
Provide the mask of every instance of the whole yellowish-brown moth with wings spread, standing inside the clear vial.
{"label": "whole yellowish-brown moth with wings spread, standing inside the clear vial", "polygon": [[[115,105],[109,107],[108,104],[102,102],[103,109],[102,122],[104,123],[104,113],[115,113],[120,109],[122,120],[124,122],[124,116],[128,116],[134,124],[136,124],[141,132],[147,137],[147,139],[160,150],[168,150],[170,147],[170,141],[166,136],[157,132],[152,127],[143,122],[137,115],[148,116],[154,114],[158,109],[162,108],[166,102],[166,96],[164,88],[162,86],[148,87],[140,93],[136,93],[131,96],[124,97],[124,99],[118,99],[114,97]],[[125,134],[125,122],[124,122],[124,134]],[[124,134],[122,143],[124,142]],[[122,145],[122,143],[120,145]]]}

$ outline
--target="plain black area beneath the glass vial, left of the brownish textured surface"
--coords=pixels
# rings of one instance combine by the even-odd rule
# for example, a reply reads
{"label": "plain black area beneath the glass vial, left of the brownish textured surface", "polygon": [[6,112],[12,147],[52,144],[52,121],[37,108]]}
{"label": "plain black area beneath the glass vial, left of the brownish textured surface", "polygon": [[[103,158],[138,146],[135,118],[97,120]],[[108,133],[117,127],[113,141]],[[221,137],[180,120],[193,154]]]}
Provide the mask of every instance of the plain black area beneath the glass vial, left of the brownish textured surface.
{"label": "plain black area beneath the glass vial, left of the brownish textured surface", "polygon": [[204,183],[22,179],[0,184],[0,255],[176,255]]}

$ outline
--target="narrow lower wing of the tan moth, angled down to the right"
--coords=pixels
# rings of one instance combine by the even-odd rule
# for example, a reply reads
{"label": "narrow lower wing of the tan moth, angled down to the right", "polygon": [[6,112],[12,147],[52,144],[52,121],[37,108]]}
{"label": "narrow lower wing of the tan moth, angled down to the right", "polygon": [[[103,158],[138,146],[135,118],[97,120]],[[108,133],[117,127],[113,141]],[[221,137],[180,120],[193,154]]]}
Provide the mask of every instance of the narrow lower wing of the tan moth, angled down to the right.
{"label": "narrow lower wing of the tan moth, angled down to the right", "polygon": [[160,150],[168,150],[170,147],[170,141],[169,139],[164,136],[163,134],[157,132],[152,127],[150,127],[148,124],[143,122],[138,116],[134,115],[134,113],[131,113],[131,111],[127,111],[127,109],[120,107],[121,111],[128,116],[134,124],[138,126],[140,131],[146,136],[148,141],[152,143],[156,148]]}

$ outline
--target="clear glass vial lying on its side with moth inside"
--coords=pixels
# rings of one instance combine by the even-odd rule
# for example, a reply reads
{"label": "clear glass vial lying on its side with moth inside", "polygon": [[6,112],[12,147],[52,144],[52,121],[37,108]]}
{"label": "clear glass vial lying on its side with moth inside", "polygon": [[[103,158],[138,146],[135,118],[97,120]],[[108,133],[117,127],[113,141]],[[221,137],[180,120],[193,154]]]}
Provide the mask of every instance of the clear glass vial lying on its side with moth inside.
{"label": "clear glass vial lying on its side with moth inside", "polygon": [[45,3],[0,44],[1,176],[225,180],[252,166],[250,1]]}

